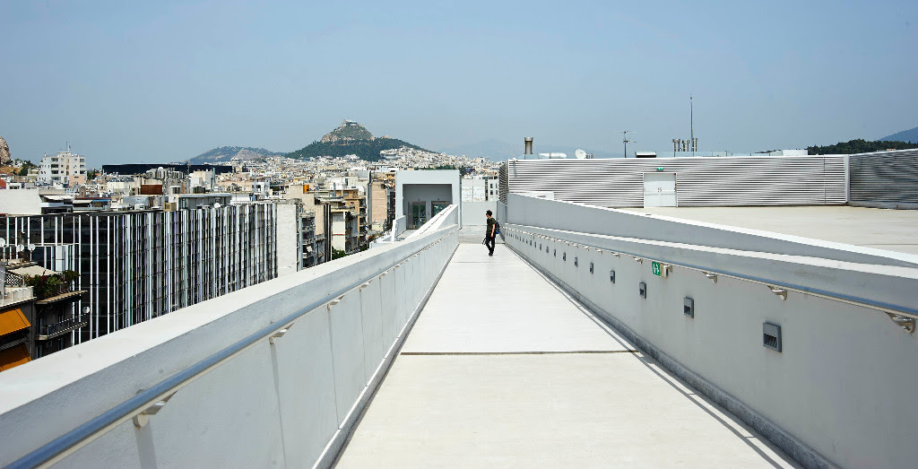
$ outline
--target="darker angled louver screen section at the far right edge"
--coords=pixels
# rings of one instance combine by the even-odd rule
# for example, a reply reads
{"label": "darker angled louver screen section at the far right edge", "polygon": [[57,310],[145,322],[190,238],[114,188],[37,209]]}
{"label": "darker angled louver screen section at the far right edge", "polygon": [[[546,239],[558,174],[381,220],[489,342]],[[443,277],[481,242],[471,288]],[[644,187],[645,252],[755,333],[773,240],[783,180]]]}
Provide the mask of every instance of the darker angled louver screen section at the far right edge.
{"label": "darker angled louver screen section at the far right edge", "polygon": [[852,203],[918,205],[918,150],[851,155]]}

